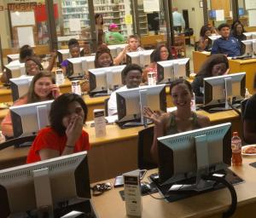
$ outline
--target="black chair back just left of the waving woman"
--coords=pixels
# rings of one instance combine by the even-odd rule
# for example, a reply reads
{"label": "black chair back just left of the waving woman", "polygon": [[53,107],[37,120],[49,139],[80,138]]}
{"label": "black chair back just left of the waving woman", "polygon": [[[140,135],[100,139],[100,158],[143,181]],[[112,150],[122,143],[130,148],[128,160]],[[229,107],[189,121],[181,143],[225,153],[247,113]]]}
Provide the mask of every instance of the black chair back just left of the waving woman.
{"label": "black chair back just left of the waving woman", "polygon": [[137,164],[138,169],[154,169],[158,165],[154,163],[151,157],[150,148],[154,139],[154,126],[148,127],[138,132],[138,151]]}

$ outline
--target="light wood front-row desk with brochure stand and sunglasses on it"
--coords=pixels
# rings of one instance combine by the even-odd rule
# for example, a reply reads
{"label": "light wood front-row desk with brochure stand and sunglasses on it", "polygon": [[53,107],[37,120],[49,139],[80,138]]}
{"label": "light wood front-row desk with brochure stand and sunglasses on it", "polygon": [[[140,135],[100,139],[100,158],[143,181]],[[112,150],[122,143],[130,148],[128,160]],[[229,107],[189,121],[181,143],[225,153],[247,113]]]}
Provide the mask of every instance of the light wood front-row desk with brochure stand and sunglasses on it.
{"label": "light wood front-row desk with brochure stand and sunglasses on it", "polygon": [[[237,175],[241,176],[246,182],[236,185],[237,209],[234,217],[254,217],[256,213],[256,176],[255,168],[249,163],[255,162],[255,158],[243,158],[241,167],[231,167]],[[154,173],[156,169],[149,170],[147,175]],[[147,176],[145,176],[147,178]],[[113,183],[113,179],[111,180]],[[146,179],[144,179],[146,181]],[[92,197],[99,217],[127,217],[125,212],[125,201],[122,201],[119,191],[123,187],[113,188],[104,192],[99,197]],[[160,198],[158,193],[155,197]],[[227,189],[220,189],[215,192],[207,192],[192,198],[186,198],[173,203],[166,203],[164,200],[157,200],[152,197],[144,196],[142,217],[222,217],[224,210],[230,204],[230,193]],[[232,216],[233,217],[233,216]]]}

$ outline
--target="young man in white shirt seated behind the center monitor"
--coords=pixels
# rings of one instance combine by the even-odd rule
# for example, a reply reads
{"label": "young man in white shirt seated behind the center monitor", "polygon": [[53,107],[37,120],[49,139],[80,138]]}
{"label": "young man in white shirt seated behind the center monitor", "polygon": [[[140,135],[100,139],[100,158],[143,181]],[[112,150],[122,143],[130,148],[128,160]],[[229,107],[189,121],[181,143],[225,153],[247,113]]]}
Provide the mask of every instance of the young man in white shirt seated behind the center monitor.
{"label": "young man in white shirt seated behind the center monitor", "polygon": [[[124,77],[125,86],[121,87],[119,90],[126,90],[137,88],[140,83],[142,83],[143,69],[141,66],[136,64],[130,64],[125,66],[122,71],[122,77]],[[117,104],[116,104],[116,91],[114,91],[108,100],[108,116],[113,116],[117,114]]]}

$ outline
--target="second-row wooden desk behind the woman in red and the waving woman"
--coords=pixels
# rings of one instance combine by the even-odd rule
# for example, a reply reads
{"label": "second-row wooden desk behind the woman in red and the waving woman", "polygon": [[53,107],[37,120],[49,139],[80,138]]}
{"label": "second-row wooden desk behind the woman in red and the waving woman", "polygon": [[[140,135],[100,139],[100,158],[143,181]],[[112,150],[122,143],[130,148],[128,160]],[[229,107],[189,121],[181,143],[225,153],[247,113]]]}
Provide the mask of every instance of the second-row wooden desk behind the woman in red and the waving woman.
{"label": "second-row wooden desk behind the woman in red and the waving woman", "polygon": [[[240,118],[234,111],[217,112],[208,115],[212,124],[232,123],[232,131],[241,128]],[[89,152],[90,181],[102,181],[137,169],[137,133],[143,127],[119,129],[115,124],[107,125],[107,135],[96,138],[95,129],[89,126],[85,130],[90,135],[91,149]],[[238,130],[241,131],[241,130]],[[9,147],[0,152],[0,169],[24,164],[28,147]]]}

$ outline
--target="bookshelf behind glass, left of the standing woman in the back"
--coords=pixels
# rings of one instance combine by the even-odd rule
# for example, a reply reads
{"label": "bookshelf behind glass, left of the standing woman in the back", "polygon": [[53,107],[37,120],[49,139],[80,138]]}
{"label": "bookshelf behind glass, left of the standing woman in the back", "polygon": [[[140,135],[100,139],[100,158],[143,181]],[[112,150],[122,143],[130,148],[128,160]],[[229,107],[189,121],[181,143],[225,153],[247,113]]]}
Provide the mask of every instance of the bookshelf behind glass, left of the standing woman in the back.
{"label": "bookshelf behind glass, left of the standing woman in the back", "polygon": [[61,9],[64,36],[77,35],[80,33],[70,31],[69,19],[79,19],[81,29],[90,26],[88,0],[62,0]]}

